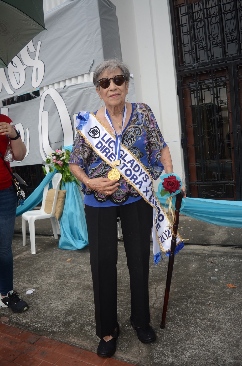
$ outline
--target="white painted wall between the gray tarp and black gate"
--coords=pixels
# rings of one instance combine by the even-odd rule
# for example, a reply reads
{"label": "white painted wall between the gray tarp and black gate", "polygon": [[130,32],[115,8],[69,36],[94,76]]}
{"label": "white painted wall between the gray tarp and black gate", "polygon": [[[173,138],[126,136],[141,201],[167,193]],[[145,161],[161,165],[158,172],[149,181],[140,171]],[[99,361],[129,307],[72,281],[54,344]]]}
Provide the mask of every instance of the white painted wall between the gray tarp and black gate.
{"label": "white painted wall between the gray tarp and black gate", "polygon": [[[123,61],[134,74],[137,101],[150,105],[185,183],[168,0],[111,0],[116,6]],[[155,182],[157,189],[160,180]]]}

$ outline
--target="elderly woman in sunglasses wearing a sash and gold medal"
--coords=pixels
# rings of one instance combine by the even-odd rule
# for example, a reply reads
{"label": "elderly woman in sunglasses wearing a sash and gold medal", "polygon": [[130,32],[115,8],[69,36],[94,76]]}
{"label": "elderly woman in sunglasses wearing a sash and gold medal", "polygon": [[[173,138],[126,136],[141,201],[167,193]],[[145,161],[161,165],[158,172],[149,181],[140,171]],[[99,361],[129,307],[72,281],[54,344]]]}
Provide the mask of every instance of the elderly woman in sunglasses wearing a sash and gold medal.
{"label": "elderly woman in sunglasses wearing a sash and gold medal", "polygon": [[[141,186],[147,180],[146,176],[158,179],[163,169],[172,173],[173,168],[169,148],[150,107],[128,102],[129,78],[130,73],[123,62],[105,60],[96,67],[93,83],[101,99],[101,108],[91,115],[79,113],[85,131],[81,125],[79,129],[77,127],[79,133],[69,161],[70,171],[84,184],[96,334],[101,338],[97,348],[99,356],[115,353],[119,335],[117,217],[121,220],[130,273],[131,325],[143,343],[156,339],[149,325],[148,292],[153,213],[142,193],[147,189],[145,191]],[[129,161],[126,152],[133,157]],[[121,156],[122,161],[126,161],[122,167]],[[135,162],[141,164],[143,171]],[[132,169],[133,172],[139,169],[139,173],[123,179],[125,166],[126,176],[132,174]]]}

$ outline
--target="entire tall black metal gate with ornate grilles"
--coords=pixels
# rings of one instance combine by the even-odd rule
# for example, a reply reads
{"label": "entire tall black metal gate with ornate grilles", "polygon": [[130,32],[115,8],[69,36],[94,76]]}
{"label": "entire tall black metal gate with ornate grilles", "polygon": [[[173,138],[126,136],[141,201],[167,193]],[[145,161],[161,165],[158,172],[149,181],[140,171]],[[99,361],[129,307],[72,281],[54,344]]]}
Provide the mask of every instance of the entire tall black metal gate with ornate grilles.
{"label": "entire tall black metal gate with ornate grilles", "polygon": [[188,195],[241,200],[242,0],[170,0]]}

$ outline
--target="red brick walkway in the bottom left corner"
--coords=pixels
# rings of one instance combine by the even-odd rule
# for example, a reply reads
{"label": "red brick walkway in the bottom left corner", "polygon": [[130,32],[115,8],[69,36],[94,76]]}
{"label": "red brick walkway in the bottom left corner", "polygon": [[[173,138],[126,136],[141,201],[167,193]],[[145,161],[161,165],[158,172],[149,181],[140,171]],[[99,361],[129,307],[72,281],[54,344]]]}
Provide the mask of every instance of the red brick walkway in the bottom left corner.
{"label": "red brick walkway in the bottom left corner", "polygon": [[133,366],[0,323],[0,366]]}

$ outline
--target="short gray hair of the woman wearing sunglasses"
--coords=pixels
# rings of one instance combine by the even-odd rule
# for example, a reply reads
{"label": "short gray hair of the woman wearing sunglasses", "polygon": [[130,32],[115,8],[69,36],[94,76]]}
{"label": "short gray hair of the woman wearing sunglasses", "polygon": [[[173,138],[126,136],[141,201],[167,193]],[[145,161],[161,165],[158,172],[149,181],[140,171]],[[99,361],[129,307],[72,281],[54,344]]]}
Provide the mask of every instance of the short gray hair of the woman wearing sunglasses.
{"label": "short gray hair of the woman wearing sunglasses", "polygon": [[121,74],[125,76],[125,83],[130,79],[130,72],[127,65],[119,59],[108,59],[101,62],[94,70],[93,84],[99,87],[98,81],[101,78],[101,74],[107,69],[107,72],[114,72],[117,68],[120,68]]}

